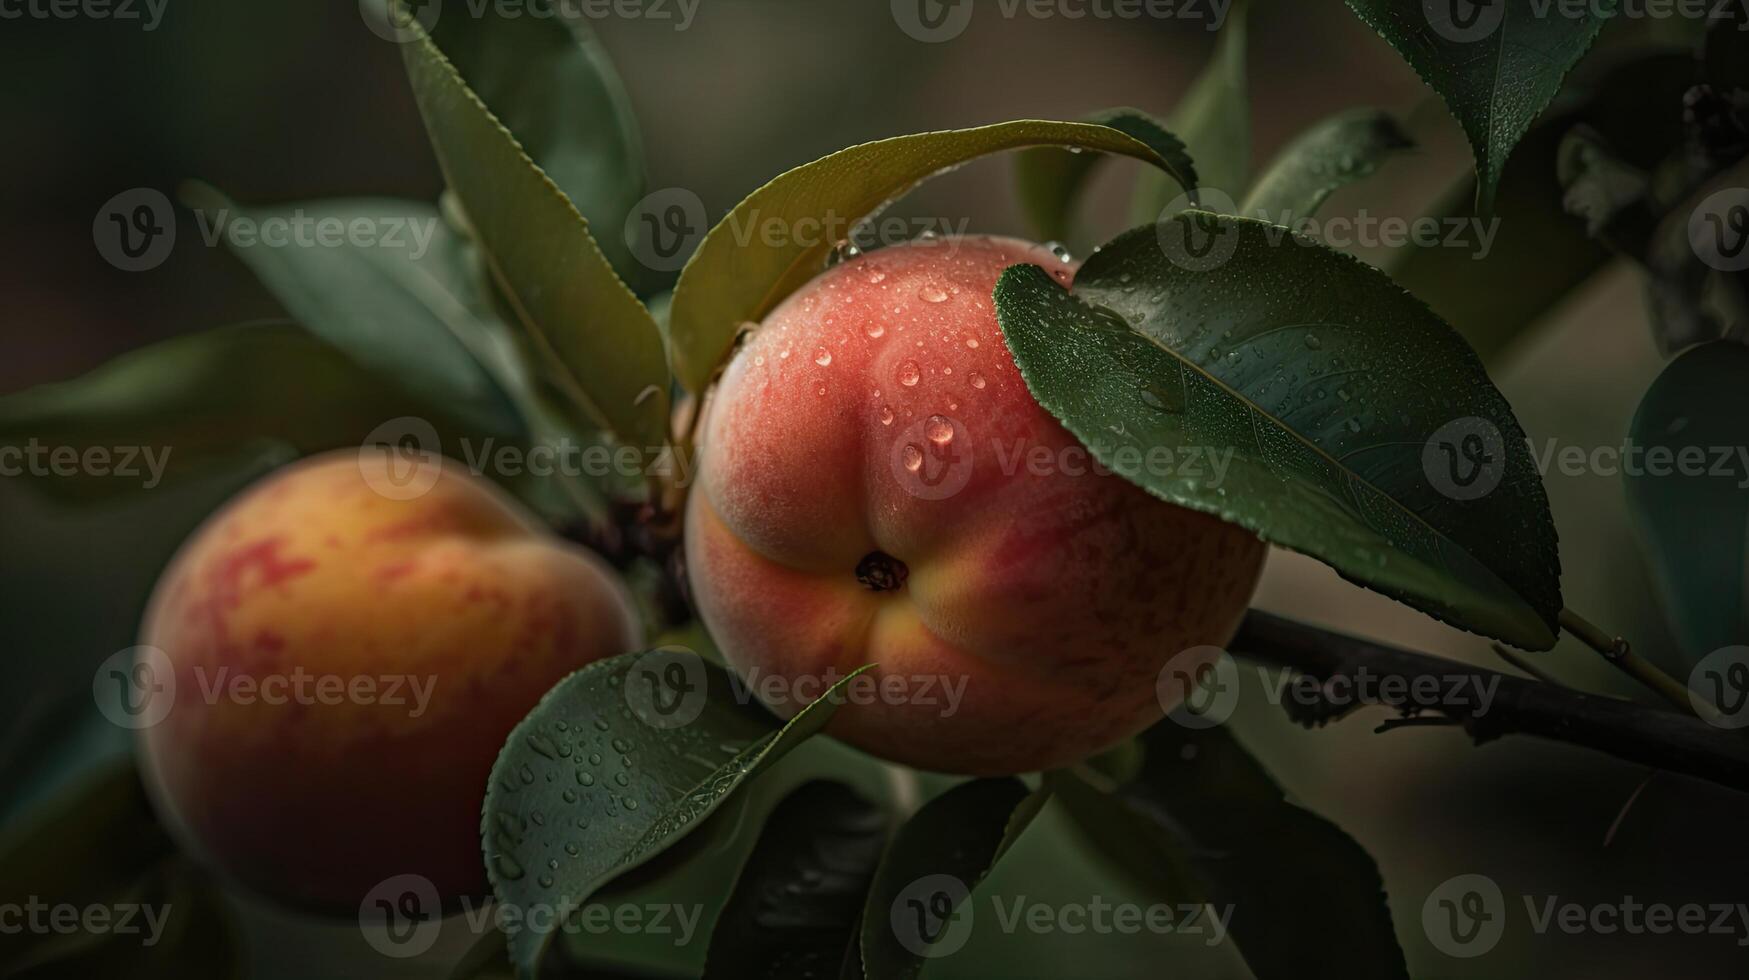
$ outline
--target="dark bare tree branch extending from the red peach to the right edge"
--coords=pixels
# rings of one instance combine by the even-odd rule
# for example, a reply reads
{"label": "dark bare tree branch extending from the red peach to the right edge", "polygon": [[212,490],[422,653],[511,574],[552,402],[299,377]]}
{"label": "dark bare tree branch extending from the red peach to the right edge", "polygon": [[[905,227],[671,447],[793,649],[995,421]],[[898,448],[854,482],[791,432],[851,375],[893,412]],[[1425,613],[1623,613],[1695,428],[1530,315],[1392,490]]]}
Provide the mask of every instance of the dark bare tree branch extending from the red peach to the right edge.
{"label": "dark bare tree branch extending from the red peach to the right edge", "polygon": [[[1429,679],[1422,684],[1439,691],[1492,686],[1487,698],[1380,704],[1406,714],[1438,710],[1462,724],[1478,746],[1502,735],[1532,735],[1749,791],[1749,738],[1674,710],[1411,653],[1256,609],[1245,614],[1230,646],[1235,654],[1315,677],[1324,690],[1331,688],[1331,679],[1355,684],[1383,677],[1399,679],[1397,684]],[[1289,704],[1289,714],[1298,707],[1303,705]],[[1352,705],[1331,704],[1322,714],[1298,714],[1296,721],[1319,724],[1347,707]]]}

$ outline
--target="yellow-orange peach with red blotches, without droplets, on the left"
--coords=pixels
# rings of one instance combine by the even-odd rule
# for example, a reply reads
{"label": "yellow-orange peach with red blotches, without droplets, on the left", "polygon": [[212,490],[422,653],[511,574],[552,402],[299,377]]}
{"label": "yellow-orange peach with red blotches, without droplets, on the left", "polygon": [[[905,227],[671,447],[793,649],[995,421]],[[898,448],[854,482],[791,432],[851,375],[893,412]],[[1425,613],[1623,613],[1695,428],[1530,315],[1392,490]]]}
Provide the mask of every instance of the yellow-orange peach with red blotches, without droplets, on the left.
{"label": "yellow-orange peach with red blotches, without droplets, on the left", "polygon": [[404,873],[481,894],[504,738],[638,640],[605,564],[460,464],[317,457],[210,518],[159,579],[140,642],[173,677],[145,704],[168,710],[142,730],[147,782],[191,850],[261,894],[357,908]]}

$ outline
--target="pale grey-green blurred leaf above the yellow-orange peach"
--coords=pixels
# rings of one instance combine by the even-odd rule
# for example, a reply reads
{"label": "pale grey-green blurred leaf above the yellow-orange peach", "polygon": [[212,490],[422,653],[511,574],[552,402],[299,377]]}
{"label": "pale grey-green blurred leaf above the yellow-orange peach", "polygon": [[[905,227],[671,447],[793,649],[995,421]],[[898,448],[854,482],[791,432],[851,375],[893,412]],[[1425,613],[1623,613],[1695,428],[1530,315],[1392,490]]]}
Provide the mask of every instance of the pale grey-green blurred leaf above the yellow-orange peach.
{"label": "pale grey-green blurred leaf above the yellow-orange peach", "polygon": [[[476,287],[467,242],[436,206],[350,198],[245,208],[203,186],[184,198],[311,332],[477,429],[523,430],[507,394],[528,390],[514,341]],[[236,238],[276,224],[294,229],[289,243]],[[317,238],[318,229],[353,226],[373,243],[350,233],[332,245]]]}

